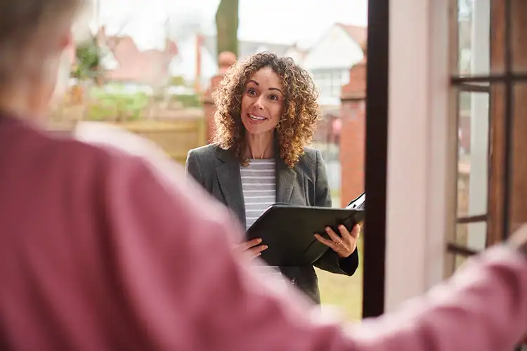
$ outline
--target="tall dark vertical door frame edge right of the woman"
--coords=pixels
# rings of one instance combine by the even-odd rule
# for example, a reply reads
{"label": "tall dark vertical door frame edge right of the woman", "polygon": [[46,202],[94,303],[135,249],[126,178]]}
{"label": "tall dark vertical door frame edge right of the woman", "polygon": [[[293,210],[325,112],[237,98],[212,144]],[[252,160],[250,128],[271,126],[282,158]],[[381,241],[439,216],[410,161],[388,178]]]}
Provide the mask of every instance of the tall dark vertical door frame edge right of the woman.
{"label": "tall dark vertical door frame edge right of the woman", "polygon": [[[363,318],[384,313],[388,159],[389,0],[368,1]],[[373,118],[375,116],[375,118]],[[375,220],[367,221],[367,213]]]}

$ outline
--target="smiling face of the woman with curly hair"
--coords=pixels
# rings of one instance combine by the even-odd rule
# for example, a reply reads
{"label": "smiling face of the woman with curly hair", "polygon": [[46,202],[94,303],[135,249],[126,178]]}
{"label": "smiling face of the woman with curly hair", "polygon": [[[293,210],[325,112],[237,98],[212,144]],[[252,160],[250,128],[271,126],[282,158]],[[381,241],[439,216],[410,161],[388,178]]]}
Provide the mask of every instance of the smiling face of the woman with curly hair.
{"label": "smiling face of the woman with curly hair", "polygon": [[248,133],[273,131],[284,110],[282,79],[270,67],[254,72],[242,96],[242,124]]}

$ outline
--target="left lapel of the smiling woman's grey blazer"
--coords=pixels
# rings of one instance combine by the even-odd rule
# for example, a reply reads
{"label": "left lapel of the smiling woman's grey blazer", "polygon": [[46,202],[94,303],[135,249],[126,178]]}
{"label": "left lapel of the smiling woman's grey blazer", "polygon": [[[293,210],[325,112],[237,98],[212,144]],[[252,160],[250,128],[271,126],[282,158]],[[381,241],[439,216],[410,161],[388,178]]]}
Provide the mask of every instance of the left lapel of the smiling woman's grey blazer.
{"label": "left lapel of the smiling woman's grey blazer", "polygon": [[216,150],[216,176],[226,205],[234,211],[245,227],[245,201],[243,200],[240,161],[228,150]]}

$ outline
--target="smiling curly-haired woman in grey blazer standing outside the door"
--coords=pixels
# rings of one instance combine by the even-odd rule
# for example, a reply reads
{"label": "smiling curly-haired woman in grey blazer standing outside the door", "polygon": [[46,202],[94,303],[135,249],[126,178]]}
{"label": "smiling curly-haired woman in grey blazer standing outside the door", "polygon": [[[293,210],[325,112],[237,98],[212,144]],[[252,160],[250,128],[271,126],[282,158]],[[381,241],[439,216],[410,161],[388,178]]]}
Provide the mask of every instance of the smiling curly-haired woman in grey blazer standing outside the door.
{"label": "smiling curly-haired woman in grey blazer standing outside the door", "polygon": [[[190,150],[188,174],[246,228],[277,202],[331,206],[320,151],[306,147],[320,119],[317,98],[310,75],[291,58],[258,53],[233,65],[214,93],[214,143]],[[315,235],[330,250],[313,265],[351,276],[358,267],[358,228],[339,231],[328,227],[331,239]],[[261,239],[239,247],[253,256],[267,249]],[[320,303],[313,265],[275,268]]]}

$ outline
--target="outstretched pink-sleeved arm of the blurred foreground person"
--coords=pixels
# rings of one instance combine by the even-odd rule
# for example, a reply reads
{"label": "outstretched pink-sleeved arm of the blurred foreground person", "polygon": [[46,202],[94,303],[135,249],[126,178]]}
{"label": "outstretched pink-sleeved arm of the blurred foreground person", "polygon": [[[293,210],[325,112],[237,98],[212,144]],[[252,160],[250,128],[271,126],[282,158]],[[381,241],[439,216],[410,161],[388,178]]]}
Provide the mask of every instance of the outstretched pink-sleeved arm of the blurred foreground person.
{"label": "outstretched pink-sleeved arm of the blurred foreground person", "polygon": [[[347,332],[310,314],[297,293],[270,286],[233,256],[226,210],[134,161],[108,175],[105,205],[118,277],[115,303],[149,350],[495,351],[527,326],[527,260],[500,247],[396,313]],[[129,201],[129,199],[141,201]],[[189,267],[189,265],[191,265]]]}

